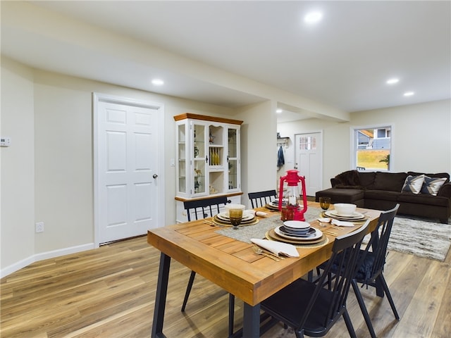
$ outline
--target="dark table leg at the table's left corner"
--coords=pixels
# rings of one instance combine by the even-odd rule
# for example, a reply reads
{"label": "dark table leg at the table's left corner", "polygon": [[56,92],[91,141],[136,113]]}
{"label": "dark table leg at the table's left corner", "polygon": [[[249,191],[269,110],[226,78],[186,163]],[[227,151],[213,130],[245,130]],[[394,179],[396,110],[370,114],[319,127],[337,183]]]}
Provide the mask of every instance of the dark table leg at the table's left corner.
{"label": "dark table leg at the table's left corner", "polygon": [[166,306],[166,294],[168,293],[169,267],[171,257],[164,253],[160,255],[160,267],[158,272],[158,283],[156,284],[154,323],[152,323],[152,338],[164,338],[163,320],[164,308]]}

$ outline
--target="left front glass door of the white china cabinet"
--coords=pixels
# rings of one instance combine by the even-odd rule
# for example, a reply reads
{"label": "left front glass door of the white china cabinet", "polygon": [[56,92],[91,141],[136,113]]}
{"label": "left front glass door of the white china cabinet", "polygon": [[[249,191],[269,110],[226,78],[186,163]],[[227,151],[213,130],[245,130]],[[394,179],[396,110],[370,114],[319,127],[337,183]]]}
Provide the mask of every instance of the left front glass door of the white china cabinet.
{"label": "left front glass door of the white china cabinet", "polygon": [[194,180],[192,187],[194,194],[205,194],[208,192],[206,180],[206,125],[193,123],[193,168]]}

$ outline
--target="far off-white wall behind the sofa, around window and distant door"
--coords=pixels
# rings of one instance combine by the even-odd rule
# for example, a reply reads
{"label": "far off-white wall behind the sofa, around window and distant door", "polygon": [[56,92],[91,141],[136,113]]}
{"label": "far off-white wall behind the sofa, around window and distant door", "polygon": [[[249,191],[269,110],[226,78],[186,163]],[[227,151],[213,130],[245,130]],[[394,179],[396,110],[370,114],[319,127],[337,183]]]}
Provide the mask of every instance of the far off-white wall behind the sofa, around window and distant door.
{"label": "far off-white wall behind the sofa, around window and distant door", "polygon": [[[451,100],[352,113],[349,123],[319,119],[279,123],[277,131],[294,140],[299,132],[323,130],[326,189],[330,187],[330,177],[350,170],[350,129],[381,124],[393,125],[392,172],[451,173]],[[294,154],[292,144],[287,151]]]}

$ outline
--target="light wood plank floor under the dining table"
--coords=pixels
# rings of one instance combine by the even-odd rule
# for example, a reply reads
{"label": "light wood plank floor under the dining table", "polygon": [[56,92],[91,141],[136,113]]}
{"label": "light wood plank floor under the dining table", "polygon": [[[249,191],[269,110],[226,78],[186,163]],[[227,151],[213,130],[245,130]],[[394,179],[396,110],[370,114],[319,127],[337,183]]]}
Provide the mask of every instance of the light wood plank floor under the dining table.
{"label": "light wood plank floor under the dining table", "polygon": [[[390,251],[385,277],[401,320],[388,301],[362,289],[378,337],[451,337],[451,253],[440,263]],[[1,280],[1,331],[6,337],[149,337],[159,251],[146,237],[33,263]],[[190,271],[173,261],[163,332],[167,337],[227,337],[228,296],[199,275],[180,312]],[[348,308],[358,337],[369,337],[352,290]],[[235,306],[235,327],[242,303]],[[281,326],[264,337],[295,337]],[[349,337],[341,320],[326,337]]]}

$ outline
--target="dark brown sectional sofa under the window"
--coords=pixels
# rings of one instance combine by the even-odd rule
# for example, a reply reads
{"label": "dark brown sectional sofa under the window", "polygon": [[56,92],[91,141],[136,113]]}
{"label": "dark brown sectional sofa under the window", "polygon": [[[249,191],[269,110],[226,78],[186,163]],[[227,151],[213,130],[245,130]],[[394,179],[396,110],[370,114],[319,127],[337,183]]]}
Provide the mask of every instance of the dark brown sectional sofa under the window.
{"label": "dark brown sectional sofa under the window", "polygon": [[[425,175],[445,178],[445,182],[434,196],[426,191],[414,194],[403,192],[406,178]],[[451,183],[448,173],[388,173],[359,172],[349,170],[330,179],[331,188],[316,192],[319,197],[330,197],[331,203],[352,203],[362,208],[388,210],[400,204],[399,214],[414,215],[448,223],[451,216]]]}

